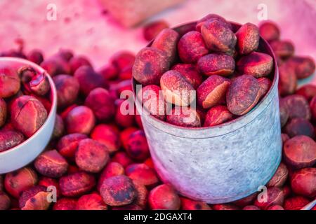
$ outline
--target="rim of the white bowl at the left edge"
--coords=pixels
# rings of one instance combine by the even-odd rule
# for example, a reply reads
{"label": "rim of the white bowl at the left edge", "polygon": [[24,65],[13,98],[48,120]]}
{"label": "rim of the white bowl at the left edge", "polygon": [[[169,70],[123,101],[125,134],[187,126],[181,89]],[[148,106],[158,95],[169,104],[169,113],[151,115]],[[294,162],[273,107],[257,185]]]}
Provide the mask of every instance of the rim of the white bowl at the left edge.
{"label": "rim of the white bowl at the left edge", "polygon": [[32,66],[32,67],[34,67],[35,70],[37,70],[39,72],[45,72],[47,74],[47,77],[49,80],[49,85],[51,86],[51,96],[53,98],[53,101],[51,104],[51,111],[49,111],[48,116],[45,120],[45,123],[43,125],[41,125],[39,130],[37,130],[37,132],[35,132],[31,137],[29,137],[28,139],[23,141],[18,146],[15,146],[13,148],[9,148],[6,151],[0,152],[0,157],[1,157],[2,155],[12,153],[13,151],[19,150],[21,147],[26,146],[29,143],[29,141],[33,141],[34,139],[37,138],[37,136],[39,135],[41,130],[44,130],[46,128],[46,126],[48,125],[48,120],[51,120],[53,118],[53,114],[54,114],[53,111],[56,111],[56,109],[57,109],[57,90],[56,90],[55,84],[53,82],[53,79],[47,73],[47,71],[45,69],[43,69],[41,66],[39,66],[38,64],[35,64],[34,62],[30,62],[27,59],[22,59],[19,57],[0,57],[0,62],[18,62],[21,64],[26,64],[26,65]]}

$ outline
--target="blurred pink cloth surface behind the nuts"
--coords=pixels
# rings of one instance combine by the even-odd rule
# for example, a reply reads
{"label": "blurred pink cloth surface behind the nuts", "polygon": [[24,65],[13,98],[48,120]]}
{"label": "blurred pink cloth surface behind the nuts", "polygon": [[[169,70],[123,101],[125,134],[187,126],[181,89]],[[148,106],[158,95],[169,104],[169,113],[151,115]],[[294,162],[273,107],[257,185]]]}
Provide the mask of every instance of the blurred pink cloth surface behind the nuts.
{"label": "blurred pink cloth surface behind the nuts", "polygon": [[[46,19],[48,3],[57,7],[55,21]],[[294,42],[296,54],[316,59],[316,0],[187,0],[150,20],[164,19],[173,27],[217,13],[227,20],[258,24],[260,3],[267,6],[268,20],[281,27],[281,38]],[[98,68],[114,52],[138,52],[147,43],[142,27],[124,29],[104,13],[98,0],[1,0],[0,8],[0,51],[16,48],[15,39],[22,38],[26,52],[39,48],[49,56],[70,48]]]}

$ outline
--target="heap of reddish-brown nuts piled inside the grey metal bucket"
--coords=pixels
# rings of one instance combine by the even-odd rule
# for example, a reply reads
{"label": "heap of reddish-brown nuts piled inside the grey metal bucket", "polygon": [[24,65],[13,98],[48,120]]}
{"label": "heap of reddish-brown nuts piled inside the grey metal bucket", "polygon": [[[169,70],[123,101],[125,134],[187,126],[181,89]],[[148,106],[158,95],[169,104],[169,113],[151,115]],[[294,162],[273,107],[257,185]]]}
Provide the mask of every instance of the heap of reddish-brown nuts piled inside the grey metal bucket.
{"label": "heap of reddish-brown nuts piled inside the grey metal bucket", "polygon": [[145,85],[138,99],[155,118],[184,127],[243,116],[272,85],[273,59],[259,40],[256,25],[237,29],[214,14],[191,30],[163,29],[136,55],[133,78]]}

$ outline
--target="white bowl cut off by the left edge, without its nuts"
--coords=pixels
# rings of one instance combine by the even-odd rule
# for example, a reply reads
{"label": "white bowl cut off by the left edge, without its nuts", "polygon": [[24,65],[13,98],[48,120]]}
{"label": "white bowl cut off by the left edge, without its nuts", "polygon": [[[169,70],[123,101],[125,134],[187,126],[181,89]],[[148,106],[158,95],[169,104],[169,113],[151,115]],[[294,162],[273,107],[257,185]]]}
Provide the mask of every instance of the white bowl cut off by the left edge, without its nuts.
{"label": "white bowl cut off by the left edge, without its nuts", "polygon": [[[40,73],[46,72],[41,68],[41,66],[25,59],[16,57],[0,57],[0,67],[13,66],[14,68],[20,68],[20,66],[25,65],[32,66]],[[51,85],[50,100],[52,104],[47,120],[45,121],[44,125],[42,125],[41,128],[32,135],[32,137],[22,142],[22,144],[0,153],[0,174],[5,174],[25,167],[25,165],[28,165],[29,162],[32,162],[42,151],[44,151],[44,148],[50,141],[55,125],[57,94],[51,76],[48,76],[48,80]]]}

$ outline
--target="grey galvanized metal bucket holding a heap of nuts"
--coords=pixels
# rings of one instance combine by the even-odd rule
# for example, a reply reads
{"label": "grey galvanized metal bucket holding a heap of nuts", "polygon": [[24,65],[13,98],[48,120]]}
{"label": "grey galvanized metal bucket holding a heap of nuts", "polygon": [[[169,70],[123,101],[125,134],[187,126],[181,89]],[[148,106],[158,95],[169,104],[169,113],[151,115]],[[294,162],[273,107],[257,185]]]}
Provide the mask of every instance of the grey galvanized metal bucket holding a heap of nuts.
{"label": "grey galvanized metal bucket holding a heap of nuts", "polygon": [[[187,31],[194,24],[175,29]],[[240,27],[232,25],[235,30]],[[157,173],[181,195],[209,204],[232,202],[255,193],[275,174],[282,155],[279,75],[275,55],[262,38],[259,49],[273,57],[273,81],[246,115],[216,127],[187,128],[142,113]],[[133,80],[134,99],[137,84]],[[136,107],[141,110],[138,100]]]}

